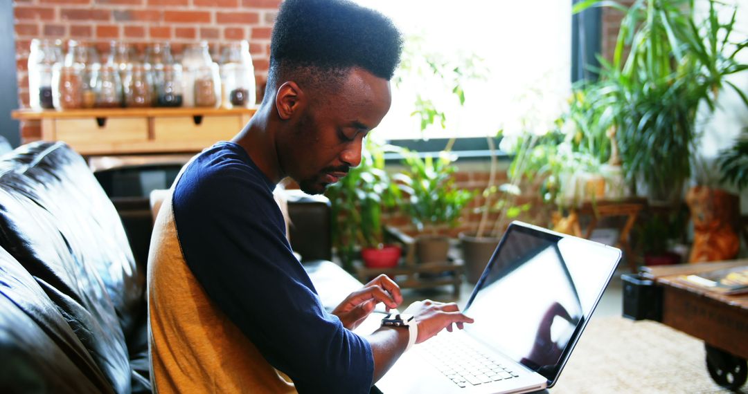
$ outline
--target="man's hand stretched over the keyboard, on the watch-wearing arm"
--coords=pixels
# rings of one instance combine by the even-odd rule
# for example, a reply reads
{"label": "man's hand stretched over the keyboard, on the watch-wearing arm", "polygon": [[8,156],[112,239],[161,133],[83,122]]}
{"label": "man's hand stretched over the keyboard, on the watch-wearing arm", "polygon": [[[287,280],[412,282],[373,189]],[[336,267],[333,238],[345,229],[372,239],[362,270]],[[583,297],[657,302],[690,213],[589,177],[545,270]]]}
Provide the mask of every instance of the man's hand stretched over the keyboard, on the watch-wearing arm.
{"label": "man's hand stretched over the keyboard, on the watch-wearing arm", "polygon": [[428,340],[439,334],[439,331],[444,328],[452,332],[453,325],[457,325],[457,328],[462,330],[465,323],[473,322],[473,319],[460,312],[459,307],[454,302],[444,304],[443,302],[431,300],[416,301],[404,313],[415,316],[415,320],[418,323],[418,338],[416,339],[416,343]]}

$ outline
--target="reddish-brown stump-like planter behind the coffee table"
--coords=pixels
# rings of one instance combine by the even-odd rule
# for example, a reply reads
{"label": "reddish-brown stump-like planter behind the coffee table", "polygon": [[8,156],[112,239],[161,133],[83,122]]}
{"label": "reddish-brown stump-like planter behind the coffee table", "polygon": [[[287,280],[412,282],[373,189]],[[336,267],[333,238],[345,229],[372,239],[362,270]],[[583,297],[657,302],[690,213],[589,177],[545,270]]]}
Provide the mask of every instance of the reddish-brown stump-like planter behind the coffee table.
{"label": "reddish-brown stump-like planter behind the coffee table", "polygon": [[731,260],[738,257],[741,241],[735,231],[740,199],[724,190],[692,187],[686,202],[693,221],[690,263]]}

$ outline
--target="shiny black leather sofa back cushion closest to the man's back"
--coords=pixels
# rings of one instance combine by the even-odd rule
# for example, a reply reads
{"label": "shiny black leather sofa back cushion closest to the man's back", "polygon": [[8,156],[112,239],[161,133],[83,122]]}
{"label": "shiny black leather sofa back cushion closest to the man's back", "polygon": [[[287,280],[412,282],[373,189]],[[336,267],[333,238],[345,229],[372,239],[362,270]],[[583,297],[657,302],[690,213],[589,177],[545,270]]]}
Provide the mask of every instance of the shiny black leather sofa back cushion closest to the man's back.
{"label": "shiny black leather sofa back cushion closest to the man's back", "polygon": [[138,316],[142,279],[114,207],[78,154],[34,143],[0,160],[0,246],[57,305],[114,390],[128,393],[120,322]]}

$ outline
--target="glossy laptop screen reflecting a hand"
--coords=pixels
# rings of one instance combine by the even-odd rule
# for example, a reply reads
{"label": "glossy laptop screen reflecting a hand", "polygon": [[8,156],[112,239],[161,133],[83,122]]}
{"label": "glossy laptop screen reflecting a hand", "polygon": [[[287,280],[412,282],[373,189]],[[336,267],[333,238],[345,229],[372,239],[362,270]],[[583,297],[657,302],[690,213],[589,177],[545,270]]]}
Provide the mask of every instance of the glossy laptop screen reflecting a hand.
{"label": "glossy laptop screen reflecting a hand", "polygon": [[620,251],[514,222],[465,313],[477,340],[553,384],[592,315]]}

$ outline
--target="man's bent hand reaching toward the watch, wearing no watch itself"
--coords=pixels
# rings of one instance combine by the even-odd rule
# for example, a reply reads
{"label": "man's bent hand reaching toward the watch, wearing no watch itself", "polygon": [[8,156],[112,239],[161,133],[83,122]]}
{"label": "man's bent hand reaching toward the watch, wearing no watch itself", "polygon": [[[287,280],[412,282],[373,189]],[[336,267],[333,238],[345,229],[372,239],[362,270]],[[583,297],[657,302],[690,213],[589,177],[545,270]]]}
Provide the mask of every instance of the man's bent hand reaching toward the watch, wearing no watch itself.
{"label": "man's bent hand reaching toward the watch, wearing no watch itself", "polygon": [[369,316],[378,303],[384,303],[387,310],[402,303],[400,287],[387,275],[379,275],[364,285],[338,305],[332,314],[340,318],[343,327],[353,330]]}

